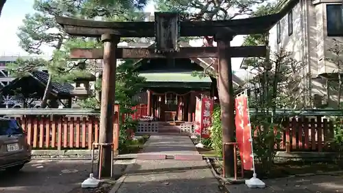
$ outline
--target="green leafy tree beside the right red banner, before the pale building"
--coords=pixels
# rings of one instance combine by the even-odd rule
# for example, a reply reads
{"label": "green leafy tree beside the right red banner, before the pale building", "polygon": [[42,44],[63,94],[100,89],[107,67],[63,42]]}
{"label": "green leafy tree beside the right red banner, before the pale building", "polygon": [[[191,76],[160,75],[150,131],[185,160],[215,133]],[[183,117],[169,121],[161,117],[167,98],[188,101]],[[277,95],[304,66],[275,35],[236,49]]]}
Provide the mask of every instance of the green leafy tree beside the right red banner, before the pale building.
{"label": "green leafy tree beside the right red banner, before the pale building", "polygon": [[[251,16],[262,16],[277,11],[276,3],[259,5]],[[268,45],[269,34],[246,36],[244,45]],[[309,77],[303,64],[294,60],[291,52],[281,49],[266,58],[245,58],[253,78],[248,81],[250,88],[249,107],[260,112],[250,117],[255,157],[261,163],[259,172],[269,173],[274,163],[275,146],[281,141],[282,120],[276,117],[276,108],[298,109],[310,101],[308,89],[303,82]],[[270,115],[271,114],[271,115]]]}

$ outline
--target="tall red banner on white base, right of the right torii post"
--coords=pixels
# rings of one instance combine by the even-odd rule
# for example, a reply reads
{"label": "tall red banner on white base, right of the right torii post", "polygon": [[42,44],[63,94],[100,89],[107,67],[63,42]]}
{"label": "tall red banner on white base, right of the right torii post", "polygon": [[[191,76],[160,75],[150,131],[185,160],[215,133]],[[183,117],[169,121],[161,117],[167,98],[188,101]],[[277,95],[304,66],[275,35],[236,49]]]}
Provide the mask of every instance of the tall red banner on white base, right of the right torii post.
{"label": "tall red banner on white base, right of the right torii post", "polygon": [[251,149],[251,126],[248,115],[248,97],[245,94],[239,95],[235,100],[235,124],[236,138],[238,143],[241,160],[243,160],[244,170],[253,170],[252,162],[254,161]]}

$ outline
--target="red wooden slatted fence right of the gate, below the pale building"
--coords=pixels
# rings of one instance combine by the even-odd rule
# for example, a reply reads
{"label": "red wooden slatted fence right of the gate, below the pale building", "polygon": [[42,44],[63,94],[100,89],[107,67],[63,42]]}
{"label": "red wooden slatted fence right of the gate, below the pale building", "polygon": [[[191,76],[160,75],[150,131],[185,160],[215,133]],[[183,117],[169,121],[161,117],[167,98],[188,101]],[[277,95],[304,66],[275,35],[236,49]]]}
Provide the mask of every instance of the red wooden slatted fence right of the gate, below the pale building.
{"label": "red wooden slatted fence right of the gate, below the pale building", "polygon": [[[278,129],[275,128],[274,133]],[[333,124],[331,121],[321,117],[303,118],[286,120],[283,123],[281,132],[281,143],[276,145],[277,150],[286,152],[304,152],[304,151],[333,151],[331,144],[333,139]],[[255,130],[255,137],[258,135]]]}

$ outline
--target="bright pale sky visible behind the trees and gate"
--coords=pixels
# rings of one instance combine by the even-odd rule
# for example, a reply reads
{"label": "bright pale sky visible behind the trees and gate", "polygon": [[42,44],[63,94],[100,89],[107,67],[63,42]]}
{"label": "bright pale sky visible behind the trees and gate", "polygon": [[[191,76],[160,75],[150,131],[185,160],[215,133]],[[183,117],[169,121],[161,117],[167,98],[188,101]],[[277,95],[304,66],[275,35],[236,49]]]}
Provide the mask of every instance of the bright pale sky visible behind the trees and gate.
{"label": "bright pale sky visible behind the trees and gate", "polygon": [[[34,12],[32,5],[34,0],[10,0],[7,1],[3,7],[0,16],[0,26],[3,30],[0,30],[0,56],[27,56],[21,47],[19,47],[19,38],[16,36],[18,27],[22,25],[22,21],[25,18],[25,14],[31,14]],[[154,4],[149,3],[144,9],[145,12],[154,12]],[[243,36],[236,36],[231,41],[231,46],[239,46],[243,42]],[[201,46],[202,40],[192,41],[192,46]],[[50,56],[52,50],[50,47],[44,48],[45,53],[43,55]],[[233,58],[233,69],[238,71],[241,63],[241,58]]]}

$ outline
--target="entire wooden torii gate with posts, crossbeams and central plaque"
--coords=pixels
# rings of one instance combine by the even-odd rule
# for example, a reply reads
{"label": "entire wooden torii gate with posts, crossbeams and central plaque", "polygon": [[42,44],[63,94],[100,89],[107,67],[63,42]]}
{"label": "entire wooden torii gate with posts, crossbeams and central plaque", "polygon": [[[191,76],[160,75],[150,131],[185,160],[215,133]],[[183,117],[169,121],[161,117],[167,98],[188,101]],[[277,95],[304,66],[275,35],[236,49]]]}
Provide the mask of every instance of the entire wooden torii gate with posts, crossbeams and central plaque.
{"label": "entire wooden torii gate with posts, crossbeams and central plaque", "polygon": [[[100,114],[100,143],[113,142],[113,106],[118,58],[219,58],[218,82],[222,109],[223,143],[234,140],[234,95],[232,57],[265,56],[265,46],[230,47],[233,36],[263,34],[280,19],[271,14],[230,21],[180,21],[178,13],[155,12],[155,22],[106,22],[56,16],[57,23],[72,36],[102,37],[104,49],[74,49],[71,58],[104,59]],[[217,47],[178,47],[180,36],[214,36]],[[121,37],[156,37],[154,48],[118,48]],[[118,144],[117,130],[114,143]],[[118,147],[118,146],[117,146]],[[116,147],[116,148],[117,148]],[[101,157],[102,174],[109,176],[110,148]],[[233,177],[233,147],[225,146],[224,177]]]}

